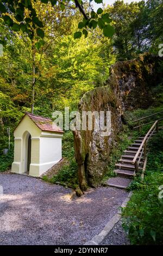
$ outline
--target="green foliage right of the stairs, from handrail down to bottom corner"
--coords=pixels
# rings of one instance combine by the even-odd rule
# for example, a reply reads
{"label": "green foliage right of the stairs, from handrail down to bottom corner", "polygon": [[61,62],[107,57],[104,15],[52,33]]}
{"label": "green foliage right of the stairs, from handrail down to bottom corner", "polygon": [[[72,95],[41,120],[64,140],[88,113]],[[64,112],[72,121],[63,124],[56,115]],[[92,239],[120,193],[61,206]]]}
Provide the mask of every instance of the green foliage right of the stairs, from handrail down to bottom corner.
{"label": "green foliage right of the stairs, from handrail down to bottom corner", "polygon": [[134,245],[162,245],[163,200],[158,197],[163,185],[162,140],[162,132],[151,139],[145,179],[132,182],[135,192],[123,211],[123,227]]}

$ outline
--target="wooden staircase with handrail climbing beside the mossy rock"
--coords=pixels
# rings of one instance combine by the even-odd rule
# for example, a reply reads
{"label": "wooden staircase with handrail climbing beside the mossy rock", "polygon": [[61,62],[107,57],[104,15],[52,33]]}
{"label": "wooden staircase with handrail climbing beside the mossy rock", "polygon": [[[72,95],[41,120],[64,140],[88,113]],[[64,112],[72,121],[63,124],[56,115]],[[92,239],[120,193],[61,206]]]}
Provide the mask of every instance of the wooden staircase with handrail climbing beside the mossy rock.
{"label": "wooden staircase with handrail climbing beside the mossy rock", "polygon": [[110,178],[105,185],[117,188],[127,188],[136,176],[137,172],[144,173],[147,163],[146,144],[156,132],[158,132],[158,121],[152,125],[151,129],[144,137],[137,138],[124,150],[121,159],[115,164],[114,178]]}

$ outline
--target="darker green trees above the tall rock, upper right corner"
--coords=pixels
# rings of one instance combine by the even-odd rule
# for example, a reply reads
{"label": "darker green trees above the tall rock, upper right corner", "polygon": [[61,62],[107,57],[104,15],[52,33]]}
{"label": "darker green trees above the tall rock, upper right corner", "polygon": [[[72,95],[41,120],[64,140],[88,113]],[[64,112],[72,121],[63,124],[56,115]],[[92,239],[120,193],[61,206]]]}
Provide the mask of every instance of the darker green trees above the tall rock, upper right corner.
{"label": "darker green trees above the tall rock, upper right corner", "polygon": [[146,51],[158,54],[158,46],[162,43],[162,10],[161,0],[115,1],[113,6],[106,8],[114,21],[112,45],[118,60],[135,58]]}

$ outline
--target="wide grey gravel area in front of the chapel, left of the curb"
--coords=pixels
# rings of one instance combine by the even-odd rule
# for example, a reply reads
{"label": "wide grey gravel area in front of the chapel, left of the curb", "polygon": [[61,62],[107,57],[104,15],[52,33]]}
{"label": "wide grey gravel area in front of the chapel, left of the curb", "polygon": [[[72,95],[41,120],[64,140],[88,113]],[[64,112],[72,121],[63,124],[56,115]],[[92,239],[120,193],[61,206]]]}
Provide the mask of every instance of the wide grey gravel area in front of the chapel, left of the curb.
{"label": "wide grey gravel area in front of the chapel, left of the curb", "polygon": [[91,189],[70,199],[70,188],[0,173],[0,245],[82,245],[99,234],[128,192]]}

